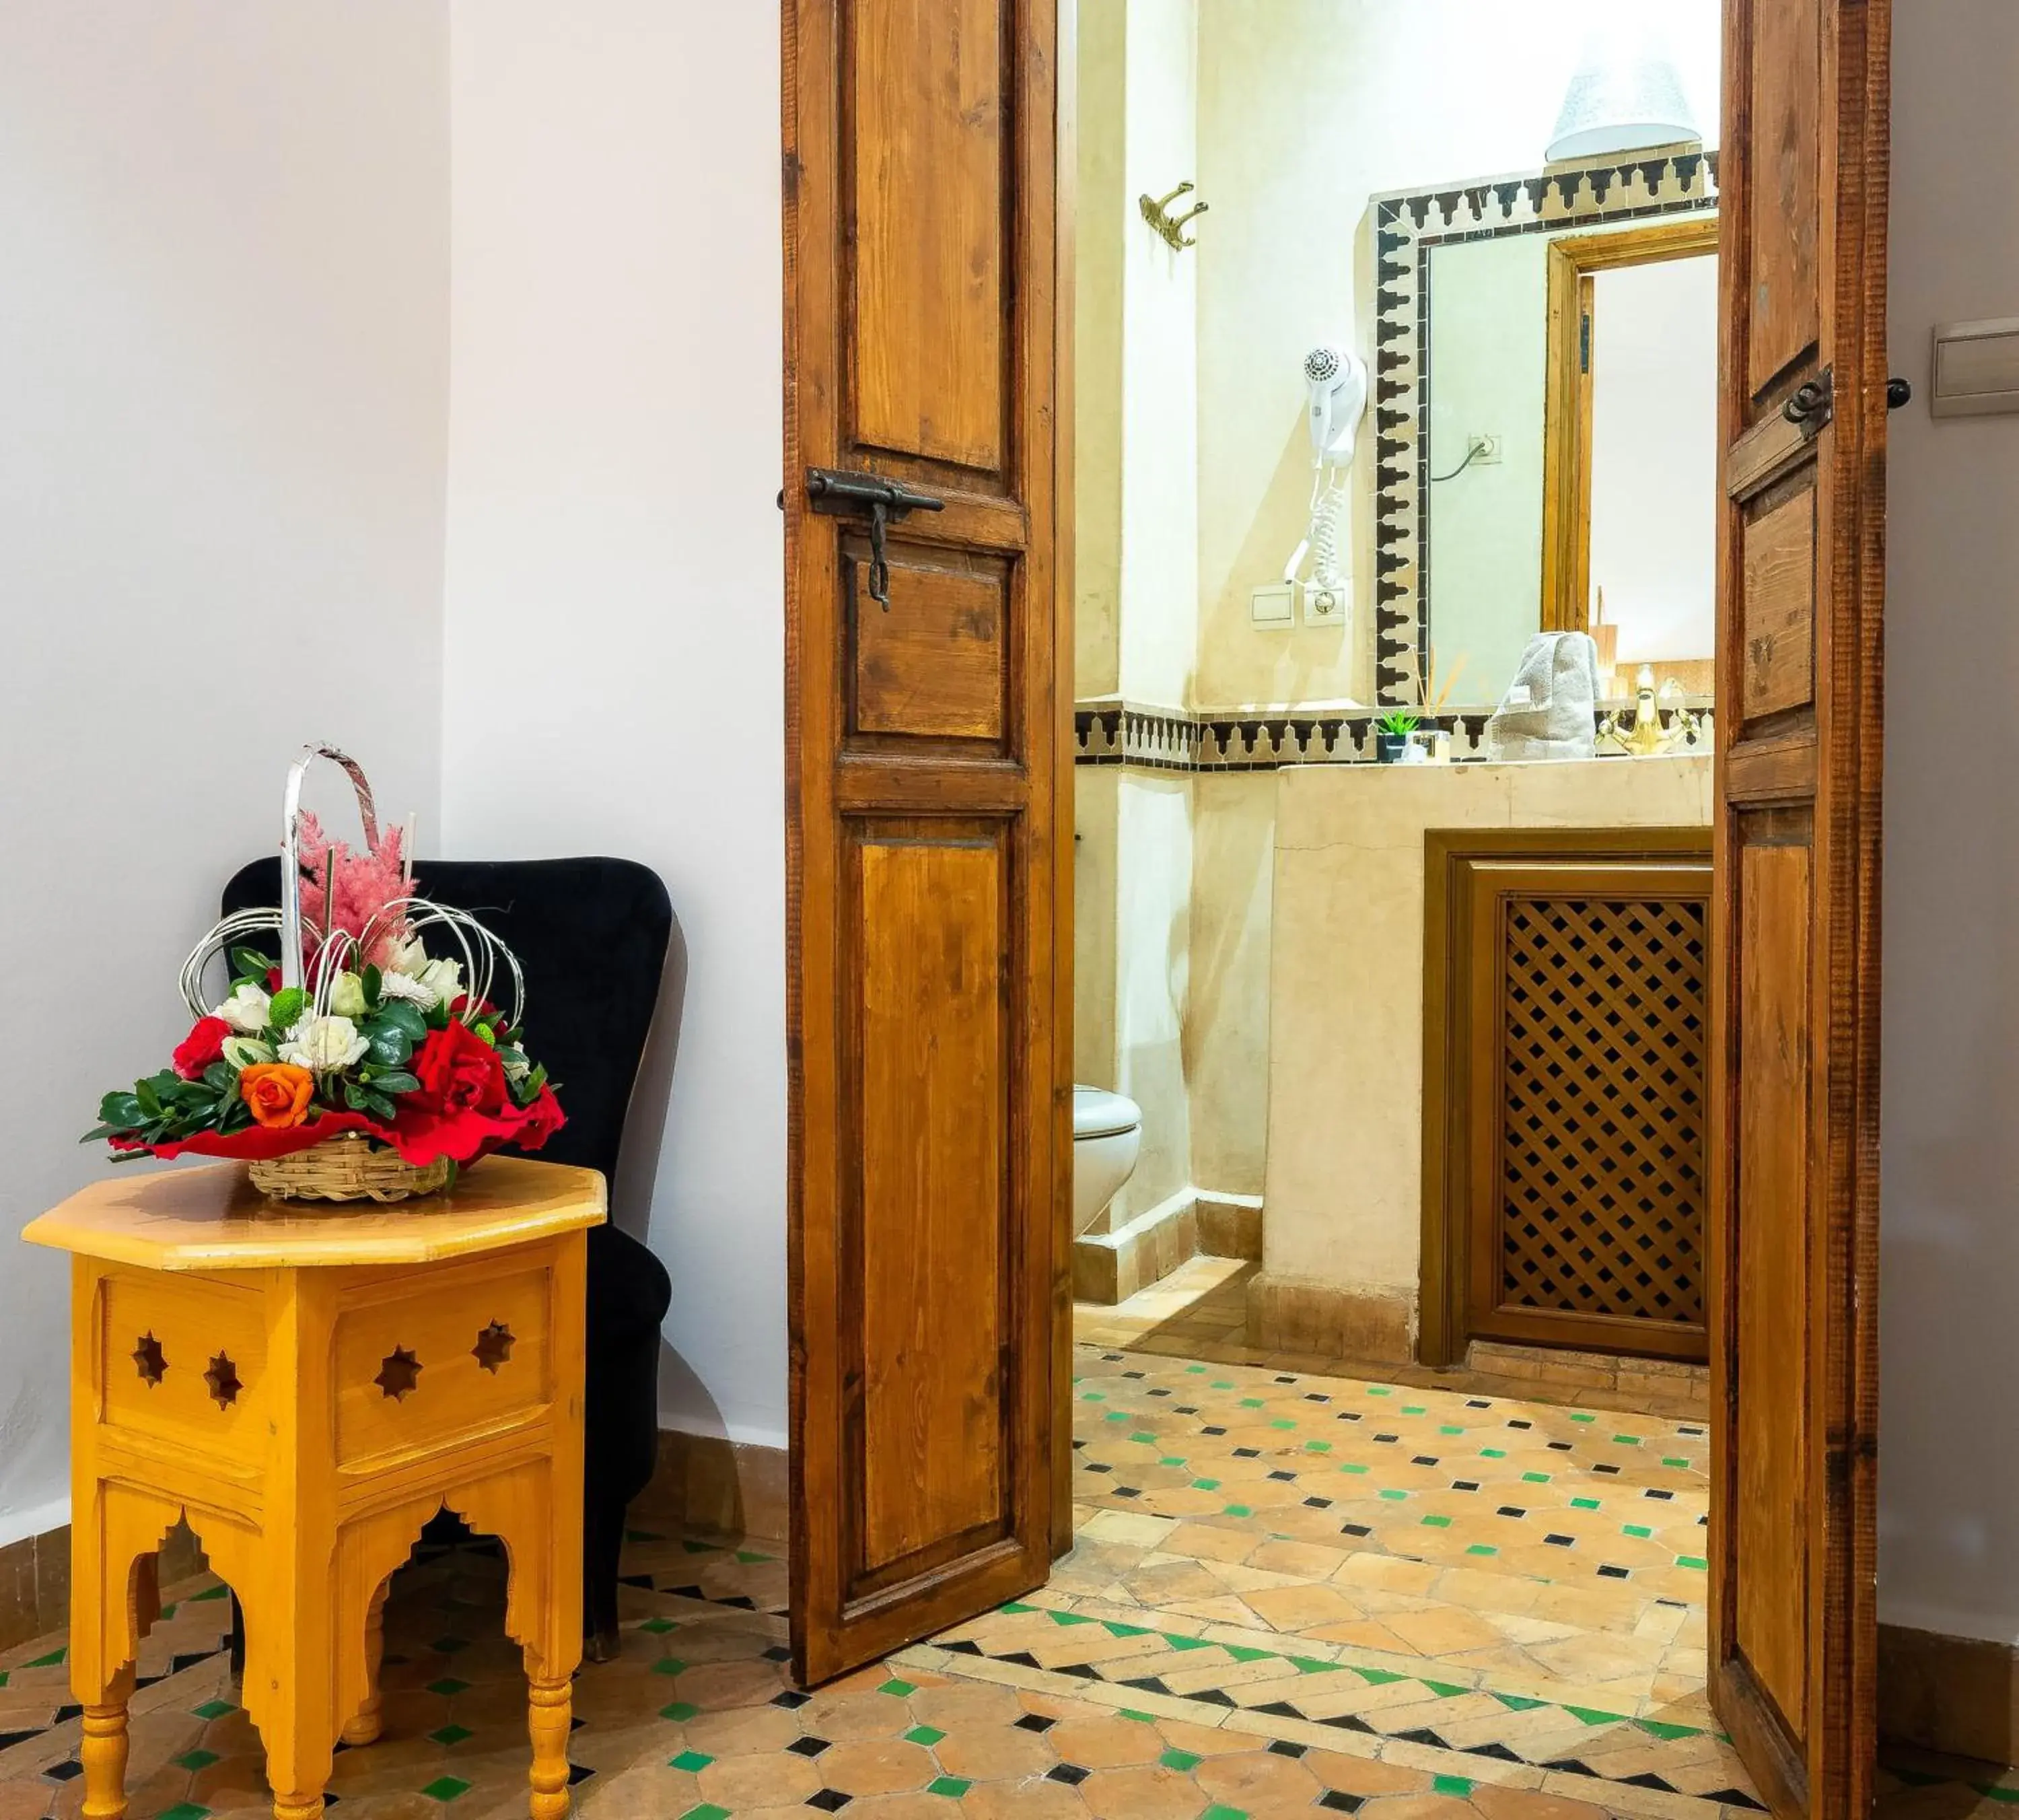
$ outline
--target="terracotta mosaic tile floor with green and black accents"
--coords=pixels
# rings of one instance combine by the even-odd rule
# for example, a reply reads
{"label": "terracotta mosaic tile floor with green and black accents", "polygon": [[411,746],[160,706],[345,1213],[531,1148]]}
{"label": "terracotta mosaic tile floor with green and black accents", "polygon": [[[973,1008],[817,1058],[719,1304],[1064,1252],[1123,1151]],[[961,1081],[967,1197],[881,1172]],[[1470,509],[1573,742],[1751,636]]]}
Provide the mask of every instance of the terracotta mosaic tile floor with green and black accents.
{"label": "terracotta mosaic tile floor with green and black accents", "polygon": [[[775,1545],[638,1531],[622,1658],[575,1683],[583,1820],[1738,1820],[1702,1701],[1698,1424],[1082,1345],[1080,1545],[1052,1584],[814,1695]],[[178,1588],[133,1709],[133,1820],[262,1820],[216,1582]],[[489,1543],[388,1606],[355,1820],[525,1812]],[[0,1656],[0,1820],[77,1814],[63,1638]],[[1900,1763],[1888,1820],[2019,1800]]]}

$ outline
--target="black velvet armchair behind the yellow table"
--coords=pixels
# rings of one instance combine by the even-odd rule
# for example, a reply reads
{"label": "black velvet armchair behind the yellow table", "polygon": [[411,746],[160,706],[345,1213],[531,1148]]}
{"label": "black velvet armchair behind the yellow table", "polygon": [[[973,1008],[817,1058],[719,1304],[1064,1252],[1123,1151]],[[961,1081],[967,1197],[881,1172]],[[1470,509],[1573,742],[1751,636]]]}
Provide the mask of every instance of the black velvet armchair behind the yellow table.
{"label": "black velvet armchair behind the yellow table", "polygon": [[[614,1182],[672,935],[666,887],[620,858],[422,861],[414,881],[519,955],[527,1046],[567,1113],[539,1155]],[[254,861],[224,887],[226,913],[279,901],[279,858]],[[616,1652],[624,1507],[652,1477],[670,1303],[672,1279],[646,1246],[614,1224],[590,1232],[581,1618],[592,1660]]]}

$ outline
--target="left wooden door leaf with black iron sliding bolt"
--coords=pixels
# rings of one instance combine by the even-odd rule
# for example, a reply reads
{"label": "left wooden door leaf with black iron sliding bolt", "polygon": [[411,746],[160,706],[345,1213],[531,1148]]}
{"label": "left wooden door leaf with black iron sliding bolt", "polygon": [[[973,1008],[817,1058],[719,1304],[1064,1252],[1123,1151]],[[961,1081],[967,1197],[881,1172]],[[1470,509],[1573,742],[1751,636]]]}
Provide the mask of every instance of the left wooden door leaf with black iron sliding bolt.
{"label": "left wooden door leaf with black iron sliding bolt", "polygon": [[1054,6],[783,6],[804,1683],[1028,1592],[1052,1553]]}

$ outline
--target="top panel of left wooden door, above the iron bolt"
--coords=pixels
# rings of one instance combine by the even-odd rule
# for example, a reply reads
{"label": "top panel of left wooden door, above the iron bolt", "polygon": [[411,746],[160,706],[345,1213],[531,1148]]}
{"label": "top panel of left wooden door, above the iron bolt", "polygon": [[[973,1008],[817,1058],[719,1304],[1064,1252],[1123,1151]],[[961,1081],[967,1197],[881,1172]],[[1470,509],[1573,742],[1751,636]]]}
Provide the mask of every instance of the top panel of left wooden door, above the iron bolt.
{"label": "top panel of left wooden door, above the iron bolt", "polygon": [[985,475],[1005,436],[1003,0],[848,0],[854,440]]}

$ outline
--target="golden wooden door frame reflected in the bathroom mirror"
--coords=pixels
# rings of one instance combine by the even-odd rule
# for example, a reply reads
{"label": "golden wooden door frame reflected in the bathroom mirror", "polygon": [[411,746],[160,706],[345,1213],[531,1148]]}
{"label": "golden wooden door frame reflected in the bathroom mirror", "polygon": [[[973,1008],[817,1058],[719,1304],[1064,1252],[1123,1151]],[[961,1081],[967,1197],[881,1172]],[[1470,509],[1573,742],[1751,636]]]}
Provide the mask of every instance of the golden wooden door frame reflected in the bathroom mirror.
{"label": "golden wooden door frame reflected in the bathroom mirror", "polygon": [[1549,392],[1543,408],[1543,630],[1591,630],[1593,273],[1718,250],[1716,214],[1549,242]]}

